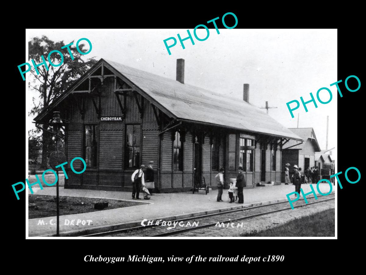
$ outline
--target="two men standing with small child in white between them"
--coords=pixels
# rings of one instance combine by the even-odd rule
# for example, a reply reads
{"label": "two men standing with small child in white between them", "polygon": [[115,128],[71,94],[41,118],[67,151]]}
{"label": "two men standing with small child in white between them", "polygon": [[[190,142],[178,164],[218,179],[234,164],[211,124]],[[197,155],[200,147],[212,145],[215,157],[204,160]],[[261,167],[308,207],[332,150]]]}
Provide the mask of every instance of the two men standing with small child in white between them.
{"label": "two men standing with small child in white between them", "polygon": [[[217,182],[217,201],[223,202],[222,195],[223,195],[223,189],[224,189],[224,168],[219,169],[219,173],[215,176],[216,182]],[[243,167],[238,167],[238,176],[236,176],[236,182],[232,183],[230,182],[229,187],[229,198],[230,203],[244,203],[244,195],[243,195],[243,188],[246,187],[245,177],[243,173]]]}

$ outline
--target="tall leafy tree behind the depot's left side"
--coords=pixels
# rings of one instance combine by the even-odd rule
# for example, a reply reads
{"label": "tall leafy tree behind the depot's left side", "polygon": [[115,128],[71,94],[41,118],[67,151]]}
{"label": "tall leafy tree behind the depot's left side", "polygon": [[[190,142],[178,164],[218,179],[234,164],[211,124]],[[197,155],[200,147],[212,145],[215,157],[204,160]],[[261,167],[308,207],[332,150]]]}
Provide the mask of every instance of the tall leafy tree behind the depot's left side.
{"label": "tall leafy tree behind the depot's left side", "polygon": [[[74,43],[74,41],[71,43]],[[59,67],[54,67],[49,64],[47,70],[44,65],[39,66],[37,68],[39,74],[37,74],[34,69],[30,70],[31,75],[29,77],[29,87],[38,91],[41,99],[37,102],[37,100],[33,98],[34,106],[31,109],[30,114],[39,114],[44,108],[48,107],[55,98],[61,95],[76,79],[86,73],[86,71],[97,62],[93,57],[89,59],[83,58],[83,55],[76,50],[74,45],[72,45],[74,47],[70,47],[74,57],[72,60],[67,48],[61,49],[61,47],[67,44],[70,43],[64,43],[64,41],[54,42],[46,36],[42,36],[41,38],[34,37],[29,41],[29,59],[33,59],[36,64],[42,63],[42,55],[47,59],[49,52],[53,50],[62,52],[64,59],[62,65]],[[86,52],[87,50],[84,47],[84,44],[79,44],[80,51]],[[53,64],[59,64],[61,62],[61,56],[57,52],[52,53],[50,59]],[[48,128],[48,125],[43,125],[43,128]],[[33,134],[35,133],[40,133],[40,130],[38,129],[33,131]],[[52,147],[51,143],[53,142],[52,135],[46,131],[42,131],[40,142],[42,143],[41,169],[46,169],[48,147]],[[34,143],[32,143],[32,145],[33,144]],[[31,144],[29,144],[29,146],[30,145]]]}

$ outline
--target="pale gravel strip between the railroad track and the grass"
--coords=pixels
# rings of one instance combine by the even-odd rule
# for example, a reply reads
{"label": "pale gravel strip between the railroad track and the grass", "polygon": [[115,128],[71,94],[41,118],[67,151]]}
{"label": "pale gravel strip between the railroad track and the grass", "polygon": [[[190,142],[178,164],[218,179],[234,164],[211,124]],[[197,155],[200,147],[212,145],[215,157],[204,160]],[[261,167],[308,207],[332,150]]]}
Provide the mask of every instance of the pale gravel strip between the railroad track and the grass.
{"label": "pale gravel strip between the railroad track and the grass", "polygon": [[[309,216],[311,214],[321,212],[327,209],[335,208],[335,201],[325,201],[319,202],[299,208],[295,208],[294,210],[284,210],[282,212],[271,213],[259,217],[254,217],[248,220],[237,221],[235,222],[235,228],[232,228],[231,225],[229,227],[210,227],[204,228],[201,230],[196,230],[192,232],[186,232],[177,236],[184,237],[229,237],[229,236],[239,236],[242,233],[250,233],[250,232],[258,232],[261,230],[266,230],[267,228],[273,228],[281,224],[285,224],[290,220]],[[243,222],[243,228],[237,228],[238,223]],[[227,224],[225,224],[226,226]]]}

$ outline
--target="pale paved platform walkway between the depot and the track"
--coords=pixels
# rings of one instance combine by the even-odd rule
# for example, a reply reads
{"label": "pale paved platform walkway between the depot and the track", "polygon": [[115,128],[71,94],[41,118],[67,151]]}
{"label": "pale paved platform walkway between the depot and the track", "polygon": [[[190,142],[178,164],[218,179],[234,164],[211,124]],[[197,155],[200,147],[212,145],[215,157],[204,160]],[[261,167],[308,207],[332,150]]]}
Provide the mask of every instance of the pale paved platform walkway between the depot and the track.
{"label": "pale paved platform walkway between the depot and the track", "polygon": [[[302,184],[301,187],[304,192],[311,191],[309,184]],[[334,192],[335,186],[332,187]],[[313,184],[313,188],[317,192],[316,184]],[[323,193],[327,193],[329,191],[329,184],[321,183],[320,190]],[[56,195],[55,187],[48,187],[43,190],[33,188],[33,191],[37,195]],[[234,208],[249,207],[254,203],[268,203],[269,201],[275,202],[278,200],[286,201],[286,194],[293,191],[295,191],[295,186],[292,184],[244,189],[243,205],[228,203],[229,196],[227,190],[224,190],[224,202],[216,201],[217,190],[210,190],[207,195],[203,191],[200,191],[198,194],[192,194],[192,192],[154,194],[149,201],[144,199],[139,200],[139,202],[146,202],[145,205],[60,216],[60,235],[75,236],[90,234],[100,232],[106,227],[109,230],[116,230],[124,227],[138,226],[143,219],[156,220],[160,218],[169,221],[198,216],[199,214],[220,212],[220,210],[226,211]],[[120,191],[60,188],[60,195],[131,200],[130,192]],[[42,220],[44,224],[41,224]],[[67,224],[67,220],[75,220],[74,225]],[[78,220],[80,221],[78,222]],[[56,233],[55,223],[56,217],[29,219],[29,236],[52,236]]]}

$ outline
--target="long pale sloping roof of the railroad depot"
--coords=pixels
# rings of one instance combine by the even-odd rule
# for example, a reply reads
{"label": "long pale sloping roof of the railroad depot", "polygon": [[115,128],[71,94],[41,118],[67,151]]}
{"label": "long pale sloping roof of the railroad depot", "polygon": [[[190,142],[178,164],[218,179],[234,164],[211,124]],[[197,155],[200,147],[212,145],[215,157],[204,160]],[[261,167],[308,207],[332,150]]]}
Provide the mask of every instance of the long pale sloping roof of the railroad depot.
{"label": "long pale sloping roof of the railroad depot", "polygon": [[[178,120],[203,122],[226,128],[302,140],[296,133],[244,100],[229,98],[193,85],[182,84],[179,81],[117,62],[101,60],[141,89],[142,94],[154,99],[158,108],[168,110]],[[62,100],[62,98],[60,97],[58,100]],[[44,112],[42,111],[42,113]],[[39,119],[41,114],[35,120]]]}

